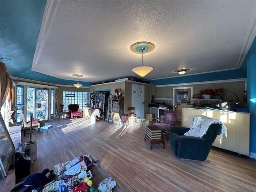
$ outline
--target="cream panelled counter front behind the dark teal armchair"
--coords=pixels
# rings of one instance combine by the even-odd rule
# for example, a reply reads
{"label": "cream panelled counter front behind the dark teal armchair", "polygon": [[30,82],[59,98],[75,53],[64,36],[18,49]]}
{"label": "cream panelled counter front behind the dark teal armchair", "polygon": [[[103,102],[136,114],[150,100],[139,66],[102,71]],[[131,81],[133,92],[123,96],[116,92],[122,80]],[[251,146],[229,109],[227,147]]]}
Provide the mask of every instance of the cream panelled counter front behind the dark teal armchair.
{"label": "cream panelled counter front behind the dark teal armchair", "polygon": [[198,115],[218,119],[226,126],[228,137],[223,136],[220,143],[220,136],[217,136],[213,146],[249,156],[250,114],[207,107],[182,108],[182,126],[190,128],[193,118]]}

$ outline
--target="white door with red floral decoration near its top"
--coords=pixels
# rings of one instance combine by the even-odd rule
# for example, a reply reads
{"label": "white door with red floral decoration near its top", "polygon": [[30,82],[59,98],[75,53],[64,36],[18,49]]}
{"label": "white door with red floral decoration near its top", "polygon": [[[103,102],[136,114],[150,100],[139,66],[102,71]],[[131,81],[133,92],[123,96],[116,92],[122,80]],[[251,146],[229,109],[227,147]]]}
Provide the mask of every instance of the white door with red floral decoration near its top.
{"label": "white door with red floral decoration near its top", "polygon": [[145,119],[145,86],[132,84],[132,107],[135,107],[137,117]]}

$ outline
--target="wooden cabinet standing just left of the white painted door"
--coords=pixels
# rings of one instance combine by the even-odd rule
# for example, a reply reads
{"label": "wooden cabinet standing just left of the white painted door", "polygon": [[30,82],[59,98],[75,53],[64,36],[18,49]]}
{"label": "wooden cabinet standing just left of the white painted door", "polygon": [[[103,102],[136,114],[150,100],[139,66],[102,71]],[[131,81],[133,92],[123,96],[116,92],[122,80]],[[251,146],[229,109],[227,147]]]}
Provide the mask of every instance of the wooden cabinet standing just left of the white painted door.
{"label": "wooden cabinet standing just left of the white painted door", "polygon": [[108,99],[108,121],[121,122],[122,114],[124,114],[124,97]]}

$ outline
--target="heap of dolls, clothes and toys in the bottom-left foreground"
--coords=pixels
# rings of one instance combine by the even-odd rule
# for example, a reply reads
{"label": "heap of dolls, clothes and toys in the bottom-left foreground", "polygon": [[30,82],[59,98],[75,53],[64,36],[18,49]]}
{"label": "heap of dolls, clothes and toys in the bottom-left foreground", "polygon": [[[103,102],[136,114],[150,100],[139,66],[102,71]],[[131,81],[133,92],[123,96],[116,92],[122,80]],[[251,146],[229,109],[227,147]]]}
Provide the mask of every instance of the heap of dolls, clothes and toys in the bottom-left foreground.
{"label": "heap of dolls, clothes and toys in the bottom-left foreground", "polygon": [[31,174],[11,192],[111,192],[116,182],[110,177],[100,182],[98,190],[92,186],[90,168],[99,163],[93,162],[90,155],[80,156],[56,164],[54,170],[46,168],[41,173]]}

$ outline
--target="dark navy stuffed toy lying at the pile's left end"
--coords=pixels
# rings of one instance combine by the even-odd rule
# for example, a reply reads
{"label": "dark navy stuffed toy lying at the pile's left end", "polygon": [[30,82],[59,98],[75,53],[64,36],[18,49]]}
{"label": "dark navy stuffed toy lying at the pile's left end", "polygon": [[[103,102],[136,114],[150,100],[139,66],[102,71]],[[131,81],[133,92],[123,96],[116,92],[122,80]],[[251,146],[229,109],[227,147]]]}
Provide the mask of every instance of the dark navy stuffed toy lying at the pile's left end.
{"label": "dark navy stuffed toy lying at the pile's left end", "polygon": [[49,169],[45,169],[41,173],[30,174],[23,182],[24,186],[26,186],[23,192],[40,191],[43,186],[54,179],[54,176]]}

